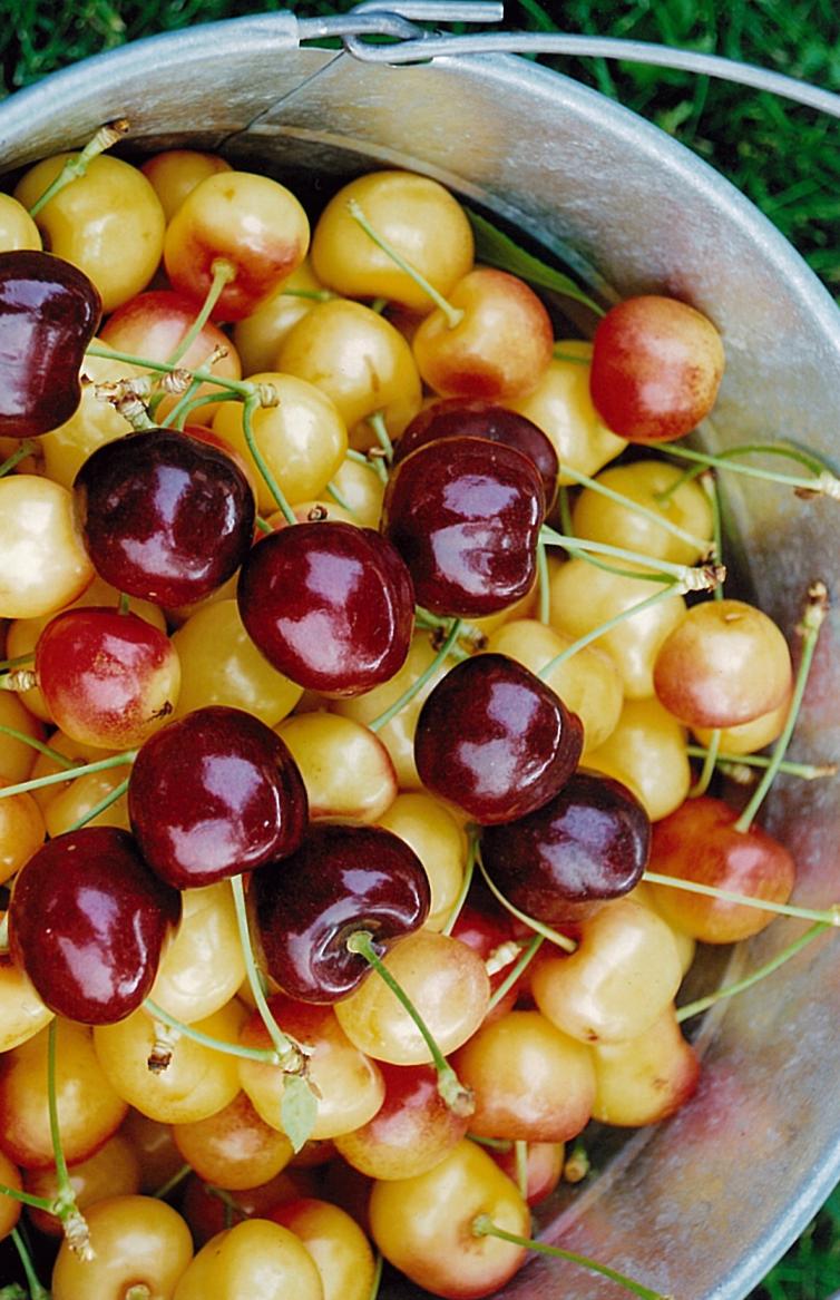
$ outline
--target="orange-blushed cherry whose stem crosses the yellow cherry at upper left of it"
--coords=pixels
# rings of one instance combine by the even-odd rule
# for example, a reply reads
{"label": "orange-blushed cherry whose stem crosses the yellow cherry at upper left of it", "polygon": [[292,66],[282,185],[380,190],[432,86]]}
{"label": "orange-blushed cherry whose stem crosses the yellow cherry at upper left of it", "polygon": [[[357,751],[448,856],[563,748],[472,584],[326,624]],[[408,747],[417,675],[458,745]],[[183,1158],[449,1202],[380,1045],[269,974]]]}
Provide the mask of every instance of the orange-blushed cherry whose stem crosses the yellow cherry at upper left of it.
{"label": "orange-blushed cherry whose stem crosses the yellow cherry at upper left of it", "polygon": [[506,402],[532,393],[551,363],[551,317],[534,291],[506,270],[481,266],[460,280],[412,343],[420,374],[441,396]]}

